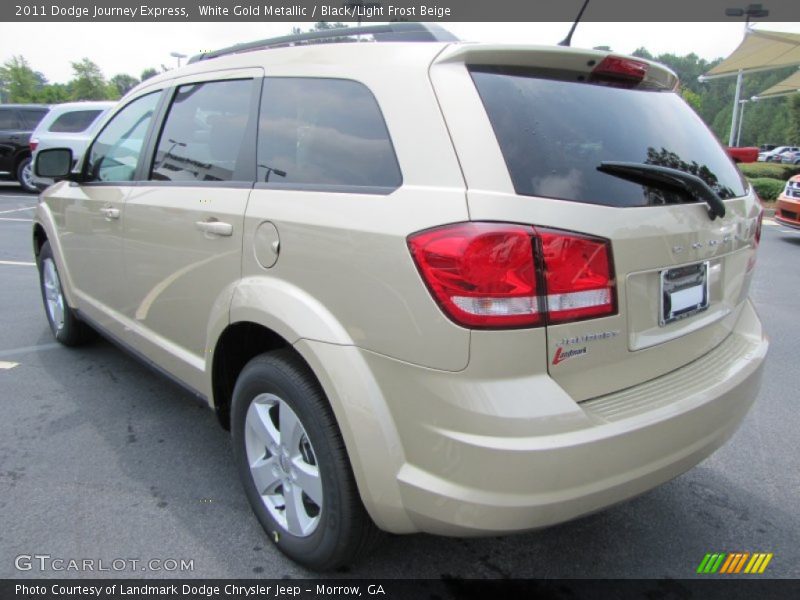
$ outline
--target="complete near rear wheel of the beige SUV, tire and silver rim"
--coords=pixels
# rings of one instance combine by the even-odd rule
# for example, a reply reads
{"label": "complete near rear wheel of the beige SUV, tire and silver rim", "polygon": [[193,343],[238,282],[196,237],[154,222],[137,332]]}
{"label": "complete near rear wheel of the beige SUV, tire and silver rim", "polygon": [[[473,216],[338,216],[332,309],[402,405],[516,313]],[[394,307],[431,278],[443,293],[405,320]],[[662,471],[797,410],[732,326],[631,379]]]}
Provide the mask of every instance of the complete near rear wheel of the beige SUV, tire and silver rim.
{"label": "complete near rear wheel of the beige SUV, tire and silver rim", "polygon": [[291,350],[262,354],[244,367],[233,391],[231,434],[247,499],[281,552],[326,571],[375,544],[380,532],[361,502],[330,405]]}

